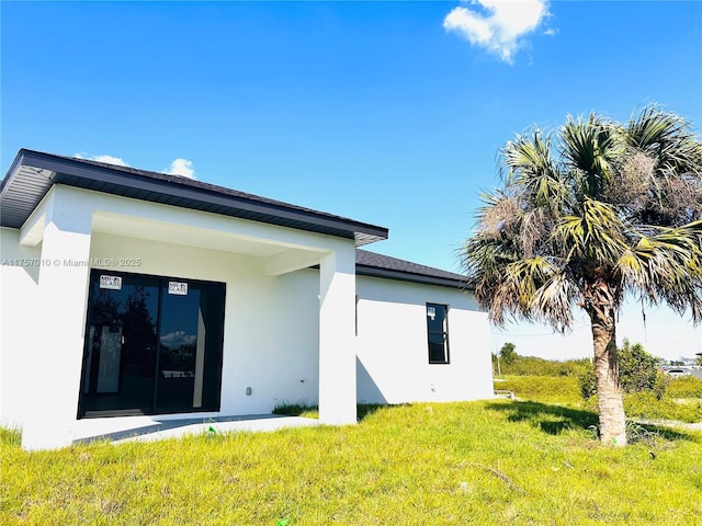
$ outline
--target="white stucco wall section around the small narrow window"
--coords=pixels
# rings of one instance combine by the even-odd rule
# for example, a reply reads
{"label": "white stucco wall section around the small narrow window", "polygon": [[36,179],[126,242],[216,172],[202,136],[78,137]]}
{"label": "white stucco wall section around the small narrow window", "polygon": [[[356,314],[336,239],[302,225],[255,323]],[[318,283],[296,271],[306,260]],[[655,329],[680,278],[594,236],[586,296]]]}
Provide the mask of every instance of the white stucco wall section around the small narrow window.
{"label": "white stucco wall section around the small narrow window", "polygon": [[[356,291],[359,401],[492,397],[489,327],[472,295],[372,277],[358,277]],[[427,302],[449,306],[450,364],[429,364]]]}

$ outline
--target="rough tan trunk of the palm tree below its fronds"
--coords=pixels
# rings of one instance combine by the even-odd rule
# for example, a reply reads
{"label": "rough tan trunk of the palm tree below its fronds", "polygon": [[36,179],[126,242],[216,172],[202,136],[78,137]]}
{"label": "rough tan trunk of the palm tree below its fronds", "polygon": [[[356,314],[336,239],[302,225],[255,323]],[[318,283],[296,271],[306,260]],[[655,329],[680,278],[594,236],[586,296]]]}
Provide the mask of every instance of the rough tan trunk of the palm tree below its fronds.
{"label": "rough tan trunk of the palm tree below its fronds", "polygon": [[625,446],[626,416],[619,382],[614,311],[613,309],[592,309],[590,321],[600,415],[600,441],[613,446]]}

